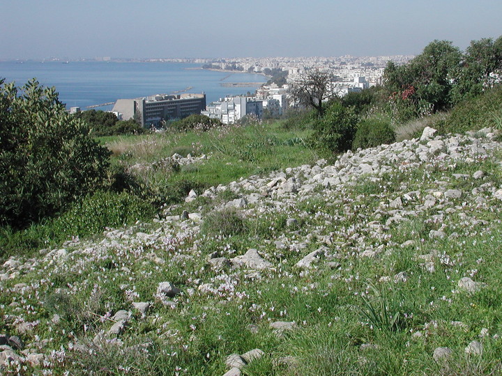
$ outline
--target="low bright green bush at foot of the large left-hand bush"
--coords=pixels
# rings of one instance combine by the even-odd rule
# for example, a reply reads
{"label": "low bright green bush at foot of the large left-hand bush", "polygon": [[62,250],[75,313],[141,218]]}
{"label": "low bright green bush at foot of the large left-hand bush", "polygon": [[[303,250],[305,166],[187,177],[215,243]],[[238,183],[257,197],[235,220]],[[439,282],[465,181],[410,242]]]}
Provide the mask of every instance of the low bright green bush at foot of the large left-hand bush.
{"label": "low bright green bush at foot of the large left-hand bush", "polygon": [[153,217],[155,207],[148,201],[122,192],[97,191],[54,220],[52,228],[69,235],[93,235],[105,227],[121,227]]}

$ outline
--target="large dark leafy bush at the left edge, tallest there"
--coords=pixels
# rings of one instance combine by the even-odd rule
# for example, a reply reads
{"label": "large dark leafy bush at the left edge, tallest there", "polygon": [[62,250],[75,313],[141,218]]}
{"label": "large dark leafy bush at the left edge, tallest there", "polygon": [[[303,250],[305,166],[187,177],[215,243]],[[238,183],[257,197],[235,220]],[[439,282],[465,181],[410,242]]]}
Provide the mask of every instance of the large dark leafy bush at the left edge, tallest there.
{"label": "large dark leafy bush at the left edge, tallest there", "polygon": [[54,88],[0,81],[0,224],[49,217],[102,186],[109,151],[70,116]]}

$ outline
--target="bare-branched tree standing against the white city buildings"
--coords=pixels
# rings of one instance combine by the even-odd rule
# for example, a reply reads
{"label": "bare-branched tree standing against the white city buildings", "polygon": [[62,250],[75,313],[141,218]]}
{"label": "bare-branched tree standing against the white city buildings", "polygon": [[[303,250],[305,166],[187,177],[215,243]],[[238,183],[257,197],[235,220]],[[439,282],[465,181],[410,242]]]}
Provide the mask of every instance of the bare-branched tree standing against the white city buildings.
{"label": "bare-branched tree standing against the white city buildings", "polygon": [[291,95],[298,104],[314,108],[321,118],[324,114],[323,103],[335,95],[331,90],[332,79],[328,72],[307,70],[305,75],[291,86]]}

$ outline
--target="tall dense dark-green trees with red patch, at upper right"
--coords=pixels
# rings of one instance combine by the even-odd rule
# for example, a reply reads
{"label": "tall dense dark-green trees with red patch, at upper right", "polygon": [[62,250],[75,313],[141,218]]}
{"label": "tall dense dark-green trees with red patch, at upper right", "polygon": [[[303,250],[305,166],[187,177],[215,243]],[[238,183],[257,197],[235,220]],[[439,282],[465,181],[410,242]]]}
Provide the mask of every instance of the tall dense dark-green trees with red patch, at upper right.
{"label": "tall dense dark-green trees with red patch, at upper right", "polygon": [[383,82],[395,120],[451,109],[500,81],[502,37],[473,40],[466,52],[434,40],[405,65],[389,62]]}

